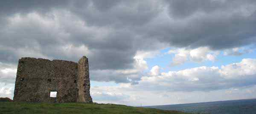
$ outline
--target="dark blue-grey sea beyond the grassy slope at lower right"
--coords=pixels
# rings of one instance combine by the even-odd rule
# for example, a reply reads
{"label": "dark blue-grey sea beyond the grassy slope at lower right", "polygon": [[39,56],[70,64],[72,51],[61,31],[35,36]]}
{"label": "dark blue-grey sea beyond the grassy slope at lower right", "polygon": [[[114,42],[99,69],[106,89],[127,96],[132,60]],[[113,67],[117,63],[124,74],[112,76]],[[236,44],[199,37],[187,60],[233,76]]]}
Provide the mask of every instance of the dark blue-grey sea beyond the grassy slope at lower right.
{"label": "dark blue-grey sea beyond the grassy slope at lower right", "polygon": [[256,114],[256,99],[143,107],[183,111],[195,114]]}

